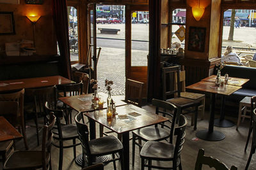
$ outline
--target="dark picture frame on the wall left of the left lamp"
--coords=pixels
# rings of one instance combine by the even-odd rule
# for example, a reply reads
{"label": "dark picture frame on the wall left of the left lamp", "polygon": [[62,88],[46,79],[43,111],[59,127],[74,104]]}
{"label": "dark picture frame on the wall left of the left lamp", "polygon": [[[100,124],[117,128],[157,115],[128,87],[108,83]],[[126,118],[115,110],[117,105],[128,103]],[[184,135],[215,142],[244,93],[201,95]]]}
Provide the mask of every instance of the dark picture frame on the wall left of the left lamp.
{"label": "dark picture frame on the wall left of the left lamp", "polygon": [[0,35],[15,34],[13,12],[0,11]]}

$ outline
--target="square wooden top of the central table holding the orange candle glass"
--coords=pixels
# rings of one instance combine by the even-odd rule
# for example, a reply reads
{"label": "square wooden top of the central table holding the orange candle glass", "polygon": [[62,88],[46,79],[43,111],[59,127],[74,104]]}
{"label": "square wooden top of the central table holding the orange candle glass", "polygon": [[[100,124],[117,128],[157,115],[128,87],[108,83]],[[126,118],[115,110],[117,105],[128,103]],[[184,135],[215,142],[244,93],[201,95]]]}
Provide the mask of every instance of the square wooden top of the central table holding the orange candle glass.
{"label": "square wooden top of the central table holding the orange candle glass", "polygon": [[[129,115],[129,113],[139,113],[138,116]],[[161,122],[166,122],[168,118],[156,115],[156,113],[151,113],[150,111],[139,108],[132,104],[120,106],[116,108],[116,113],[118,115],[127,115],[127,119],[120,119],[118,115],[114,118],[107,118],[106,110],[97,110],[93,112],[84,113],[86,117],[92,118],[95,122],[98,122],[104,127],[107,127],[111,131],[118,134],[134,131],[142,127],[147,127],[149,125],[159,124]]]}

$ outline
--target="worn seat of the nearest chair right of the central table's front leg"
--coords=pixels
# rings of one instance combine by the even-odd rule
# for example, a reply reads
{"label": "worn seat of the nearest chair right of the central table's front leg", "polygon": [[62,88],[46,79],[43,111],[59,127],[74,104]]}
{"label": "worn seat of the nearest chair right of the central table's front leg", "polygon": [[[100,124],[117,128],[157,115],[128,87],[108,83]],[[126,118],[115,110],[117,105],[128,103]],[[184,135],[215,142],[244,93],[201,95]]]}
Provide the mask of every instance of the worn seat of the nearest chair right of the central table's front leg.
{"label": "worn seat of the nearest chair right of the central table's front leg", "polygon": [[172,160],[175,146],[159,141],[147,141],[141,149],[140,156],[153,160]]}

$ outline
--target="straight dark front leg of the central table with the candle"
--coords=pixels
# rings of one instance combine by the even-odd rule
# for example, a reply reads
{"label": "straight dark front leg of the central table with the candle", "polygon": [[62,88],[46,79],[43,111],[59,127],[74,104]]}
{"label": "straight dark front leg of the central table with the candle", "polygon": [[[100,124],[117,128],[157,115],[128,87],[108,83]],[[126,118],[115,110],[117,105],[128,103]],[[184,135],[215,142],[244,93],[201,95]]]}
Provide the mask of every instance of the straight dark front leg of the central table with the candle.
{"label": "straight dark front leg of the central table with the candle", "polygon": [[124,147],[124,169],[129,170],[130,152],[129,152],[129,132],[122,133],[122,143]]}

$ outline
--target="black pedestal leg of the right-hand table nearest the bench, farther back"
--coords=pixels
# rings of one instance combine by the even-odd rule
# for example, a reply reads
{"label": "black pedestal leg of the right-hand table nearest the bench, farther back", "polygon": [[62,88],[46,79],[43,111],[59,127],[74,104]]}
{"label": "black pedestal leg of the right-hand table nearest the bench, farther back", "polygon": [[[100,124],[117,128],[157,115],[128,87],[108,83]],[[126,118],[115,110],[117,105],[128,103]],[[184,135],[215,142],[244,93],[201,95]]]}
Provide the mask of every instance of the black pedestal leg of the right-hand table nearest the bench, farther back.
{"label": "black pedestal leg of the right-hand table nearest the bench, farther back", "polygon": [[217,127],[232,127],[235,124],[233,122],[231,122],[230,120],[226,120],[225,119],[225,112],[224,112],[224,108],[225,108],[225,96],[221,95],[221,110],[220,110],[220,118],[216,118],[214,120],[214,126]]}

